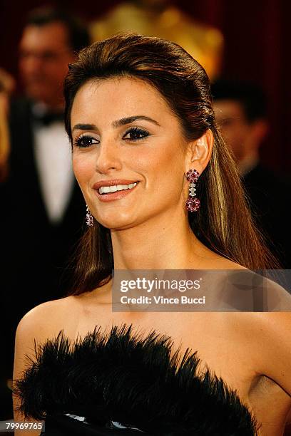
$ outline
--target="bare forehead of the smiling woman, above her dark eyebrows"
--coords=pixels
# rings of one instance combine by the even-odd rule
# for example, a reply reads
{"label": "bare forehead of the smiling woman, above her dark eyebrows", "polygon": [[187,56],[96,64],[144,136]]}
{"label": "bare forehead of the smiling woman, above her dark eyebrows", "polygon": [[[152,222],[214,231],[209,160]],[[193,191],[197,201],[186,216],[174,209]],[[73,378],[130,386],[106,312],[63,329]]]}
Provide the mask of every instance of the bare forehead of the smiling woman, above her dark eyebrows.
{"label": "bare forehead of the smiling woman, above her dark eyebrows", "polygon": [[148,115],[155,120],[172,118],[170,106],[158,90],[138,78],[109,78],[85,83],[76,93],[71,111],[72,124],[118,120],[133,115]]}

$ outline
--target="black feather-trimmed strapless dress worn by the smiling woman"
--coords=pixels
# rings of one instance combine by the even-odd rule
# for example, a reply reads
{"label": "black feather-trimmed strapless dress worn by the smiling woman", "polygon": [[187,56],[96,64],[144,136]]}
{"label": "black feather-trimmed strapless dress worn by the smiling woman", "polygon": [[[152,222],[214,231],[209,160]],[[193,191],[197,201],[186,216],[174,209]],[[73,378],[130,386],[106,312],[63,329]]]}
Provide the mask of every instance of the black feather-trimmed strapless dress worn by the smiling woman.
{"label": "black feather-trimmed strapless dress worn by the smiling woman", "polygon": [[235,391],[197,353],[170,355],[170,337],[132,326],[100,327],[74,343],[61,331],[36,348],[14,383],[26,417],[45,436],[254,436],[257,423]]}

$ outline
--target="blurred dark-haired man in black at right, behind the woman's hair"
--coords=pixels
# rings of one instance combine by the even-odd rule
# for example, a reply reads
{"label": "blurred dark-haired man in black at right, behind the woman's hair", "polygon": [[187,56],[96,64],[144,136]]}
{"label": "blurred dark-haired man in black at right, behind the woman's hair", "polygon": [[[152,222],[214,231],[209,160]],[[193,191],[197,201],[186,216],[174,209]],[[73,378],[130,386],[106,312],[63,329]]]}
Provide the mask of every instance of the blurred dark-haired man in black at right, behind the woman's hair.
{"label": "blurred dark-haired man in black at right, behind the woman's hair", "polygon": [[238,164],[257,227],[282,266],[290,269],[290,186],[260,162],[269,130],[265,94],[256,85],[225,80],[214,83],[212,92],[215,116]]}

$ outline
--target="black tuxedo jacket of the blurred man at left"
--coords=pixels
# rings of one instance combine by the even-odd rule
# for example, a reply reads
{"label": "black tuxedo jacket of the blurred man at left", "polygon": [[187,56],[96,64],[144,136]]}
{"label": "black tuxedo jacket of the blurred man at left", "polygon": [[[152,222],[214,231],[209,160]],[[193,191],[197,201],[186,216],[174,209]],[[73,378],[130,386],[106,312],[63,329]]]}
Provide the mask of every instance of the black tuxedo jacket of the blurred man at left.
{"label": "black tuxedo jacket of the blurred man at left", "polygon": [[[34,160],[31,103],[15,100],[10,108],[9,178],[0,187],[1,301],[13,350],[17,323],[39,303],[66,293],[71,271],[66,264],[83,232],[85,202],[77,183],[58,225],[49,222]],[[4,316],[2,316],[3,321]]]}

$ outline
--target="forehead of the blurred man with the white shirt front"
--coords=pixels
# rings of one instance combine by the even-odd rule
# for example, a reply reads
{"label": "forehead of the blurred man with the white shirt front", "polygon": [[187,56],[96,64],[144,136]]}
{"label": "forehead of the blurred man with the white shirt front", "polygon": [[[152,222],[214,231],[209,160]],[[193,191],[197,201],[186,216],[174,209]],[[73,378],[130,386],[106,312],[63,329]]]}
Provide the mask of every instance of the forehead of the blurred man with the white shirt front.
{"label": "forehead of the blurred man with the white shirt front", "polygon": [[21,37],[20,48],[31,50],[67,49],[69,48],[68,29],[58,21],[43,26],[26,26]]}

